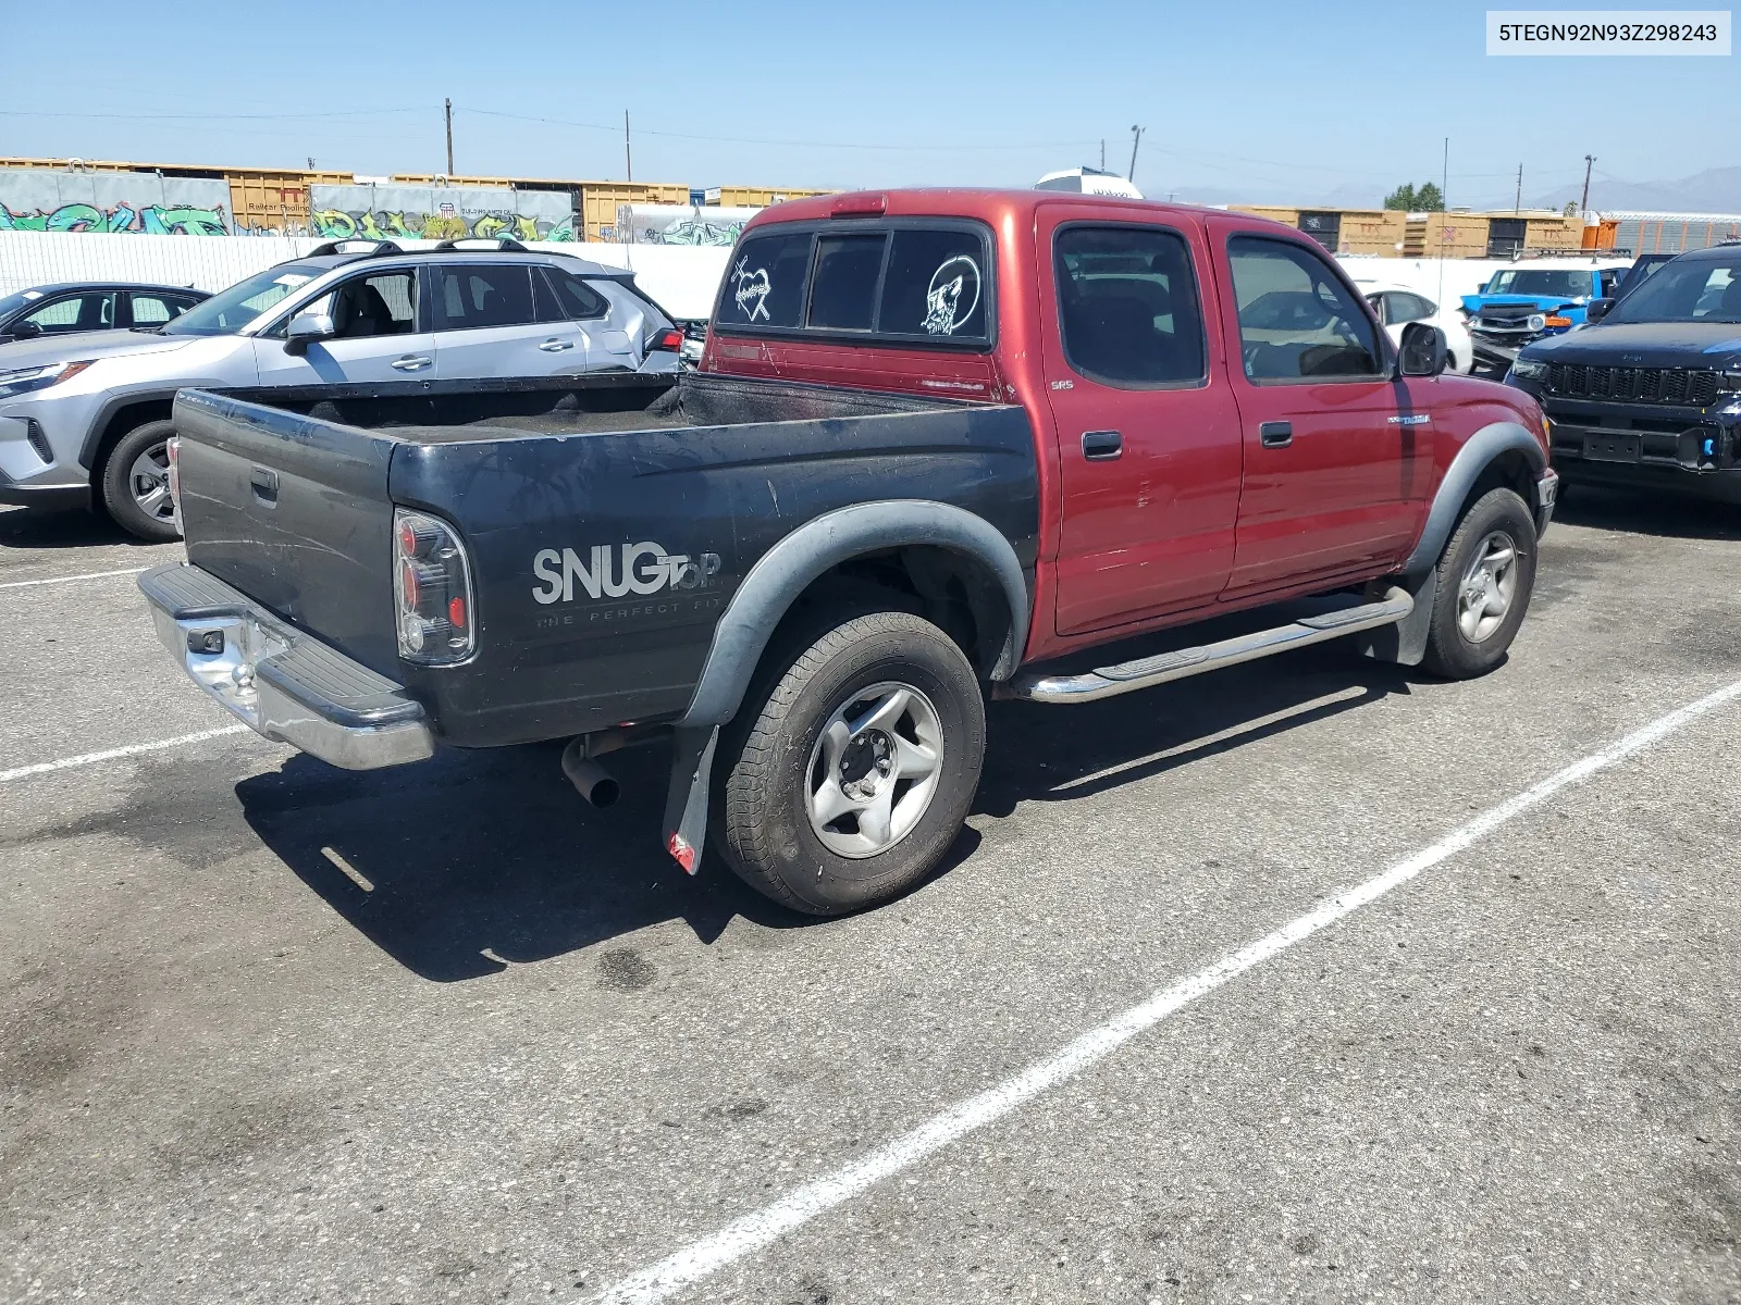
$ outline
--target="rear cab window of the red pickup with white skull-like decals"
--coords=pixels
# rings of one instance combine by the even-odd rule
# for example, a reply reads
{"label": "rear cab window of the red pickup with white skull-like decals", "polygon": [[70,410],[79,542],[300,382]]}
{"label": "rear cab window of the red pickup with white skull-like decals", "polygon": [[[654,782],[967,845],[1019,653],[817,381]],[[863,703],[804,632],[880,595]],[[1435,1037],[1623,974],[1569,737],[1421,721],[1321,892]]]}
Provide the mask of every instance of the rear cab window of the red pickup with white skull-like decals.
{"label": "rear cab window of the red pickup with white skull-like decals", "polygon": [[978,223],[794,223],[738,242],[714,324],[723,334],[985,351],[992,291],[991,231]]}

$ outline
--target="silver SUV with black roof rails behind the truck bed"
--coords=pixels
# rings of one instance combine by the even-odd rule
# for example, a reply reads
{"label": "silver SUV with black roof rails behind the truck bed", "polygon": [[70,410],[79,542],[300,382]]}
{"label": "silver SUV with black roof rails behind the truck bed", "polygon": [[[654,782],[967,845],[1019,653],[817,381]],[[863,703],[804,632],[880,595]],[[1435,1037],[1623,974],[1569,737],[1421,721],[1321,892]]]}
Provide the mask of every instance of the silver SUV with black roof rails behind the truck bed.
{"label": "silver SUV with black roof rails behind the truck bed", "polygon": [[174,539],[167,442],[183,386],[677,371],[682,332],[632,273],[512,240],[320,245],[176,320],[0,351],[0,503],[103,505]]}

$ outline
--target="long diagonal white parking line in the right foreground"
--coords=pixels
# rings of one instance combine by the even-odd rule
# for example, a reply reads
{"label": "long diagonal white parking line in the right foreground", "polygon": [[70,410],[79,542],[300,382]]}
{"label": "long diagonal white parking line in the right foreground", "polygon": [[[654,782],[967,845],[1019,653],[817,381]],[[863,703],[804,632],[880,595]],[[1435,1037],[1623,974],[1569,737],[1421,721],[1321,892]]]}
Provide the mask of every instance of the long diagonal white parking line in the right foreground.
{"label": "long diagonal white parking line in the right foreground", "polygon": [[968,1133],[1003,1119],[1041,1093],[1074,1079],[1137,1034],[1147,1032],[1173,1014],[1173,1011],[1213,992],[1254,966],[1280,955],[1361,907],[1372,905],[1391,889],[1407,884],[1410,879],[1480,842],[1506,821],[1546,802],[1567,785],[1588,780],[1596,771],[1603,771],[1640,748],[1650,746],[1689,720],[1722,706],[1736,696],[1741,696],[1741,680],[1652,720],[1649,726],[1626,734],[1607,748],[1548,776],[1534,788],[1482,813],[1468,825],[1447,833],[1431,847],[1422,847],[1407,861],[1400,861],[1365,884],[1346,889],[1316,910],[1288,920],[1274,933],[1241,947],[1213,966],[1156,990],[1147,1000],[1119,1011],[1046,1060],[1029,1065],[1020,1074],[1005,1079],[994,1088],[987,1088],[978,1096],[958,1101],[909,1133],[902,1133],[898,1138],[883,1143],[869,1155],[844,1164],[830,1174],[811,1180],[771,1206],[745,1215],[719,1232],[702,1237],[658,1263],[630,1274],[606,1288],[595,1300],[599,1305],[653,1305],[719,1272],[726,1265],[754,1255],[834,1206],[851,1201],[865,1188],[918,1164]]}

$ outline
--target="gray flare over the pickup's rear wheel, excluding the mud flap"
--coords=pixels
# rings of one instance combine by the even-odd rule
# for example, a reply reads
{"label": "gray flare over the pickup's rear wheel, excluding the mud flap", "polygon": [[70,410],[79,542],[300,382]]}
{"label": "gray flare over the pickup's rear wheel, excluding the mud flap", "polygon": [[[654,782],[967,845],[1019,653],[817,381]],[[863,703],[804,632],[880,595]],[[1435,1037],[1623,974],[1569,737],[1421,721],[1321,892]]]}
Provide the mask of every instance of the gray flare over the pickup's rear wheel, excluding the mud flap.
{"label": "gray flare over the pickup's rear wheel, excluding the mud flap", "polygon": [[823,572],[881,548],[931,545],[985,566],[1010,609],[1010,633],[992,666],[1006,679],[1027,640],[1027,576],[1010,541],[984,517],[931,499],[883,499],[825,512],[770,548],[750,567],[714,626],[714,642],[681,729],[721,726],[736,715],[768,639],[797,597]]}

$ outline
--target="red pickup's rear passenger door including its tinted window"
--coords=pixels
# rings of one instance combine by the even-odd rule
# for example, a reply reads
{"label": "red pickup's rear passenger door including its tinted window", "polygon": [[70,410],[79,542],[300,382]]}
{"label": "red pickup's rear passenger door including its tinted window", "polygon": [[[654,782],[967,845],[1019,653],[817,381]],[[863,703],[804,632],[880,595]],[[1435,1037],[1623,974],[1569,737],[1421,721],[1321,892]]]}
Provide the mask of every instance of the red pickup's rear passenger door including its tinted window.
{"label": "red pickup's rear passenger door including its tinted window", "polygon": [[1045,376],[1064,524],[1057,630],[1104,630],[1215,600],[1234,557],[1240,412],[1205,331],[1200,235],[1041,209]]}

